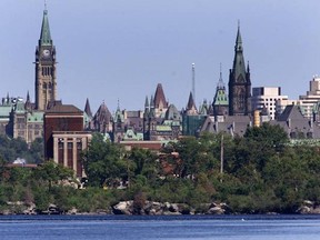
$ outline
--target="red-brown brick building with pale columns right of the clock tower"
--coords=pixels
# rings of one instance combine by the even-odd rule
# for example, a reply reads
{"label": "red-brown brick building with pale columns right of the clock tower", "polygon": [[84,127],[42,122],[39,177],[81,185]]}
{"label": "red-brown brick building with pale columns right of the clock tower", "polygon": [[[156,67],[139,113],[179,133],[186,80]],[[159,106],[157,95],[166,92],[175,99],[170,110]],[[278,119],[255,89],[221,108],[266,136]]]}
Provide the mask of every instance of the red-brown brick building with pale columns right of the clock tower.
{"label": "red-brown brick building with pale columns right of the clock tower", "polygon": [[44,113],[44,160],[84,176],[80,153],[88,148],[91,133],[83,130],[83,112],[71,104],[57,102]]}

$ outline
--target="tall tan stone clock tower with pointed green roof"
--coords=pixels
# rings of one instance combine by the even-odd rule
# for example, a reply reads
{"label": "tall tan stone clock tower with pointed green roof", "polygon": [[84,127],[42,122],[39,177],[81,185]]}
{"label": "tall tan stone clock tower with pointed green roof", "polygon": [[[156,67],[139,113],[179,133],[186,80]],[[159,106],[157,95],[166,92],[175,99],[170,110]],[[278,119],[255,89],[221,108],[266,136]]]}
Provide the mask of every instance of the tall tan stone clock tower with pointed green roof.
{"label": "tall tan stone clock tower with pointed green roof", "polygon": [[48,10],[43,11],[39,43],[36,48],[36,109],[46,110],[57,98],[56,47],[53,46]]}

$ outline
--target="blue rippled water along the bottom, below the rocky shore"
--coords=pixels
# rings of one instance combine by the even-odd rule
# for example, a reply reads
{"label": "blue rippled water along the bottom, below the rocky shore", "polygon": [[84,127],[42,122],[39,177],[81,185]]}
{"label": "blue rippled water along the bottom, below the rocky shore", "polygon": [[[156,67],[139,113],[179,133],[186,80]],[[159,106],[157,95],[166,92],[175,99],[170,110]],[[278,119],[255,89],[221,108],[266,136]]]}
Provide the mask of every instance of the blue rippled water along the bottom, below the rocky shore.
{"label": "blue rippled water along the bottom, below the rocky shore", "polygon": [[320,216],[2,216],[0,239],[319,240]]}

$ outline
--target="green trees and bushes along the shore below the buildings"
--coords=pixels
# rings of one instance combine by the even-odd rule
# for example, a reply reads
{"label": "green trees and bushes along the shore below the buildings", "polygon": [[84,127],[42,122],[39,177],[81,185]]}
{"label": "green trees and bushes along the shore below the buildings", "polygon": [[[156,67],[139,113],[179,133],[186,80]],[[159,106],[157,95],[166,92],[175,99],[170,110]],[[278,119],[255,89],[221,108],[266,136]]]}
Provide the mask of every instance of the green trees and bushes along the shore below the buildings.
{"label": "green trees and bushes along the shore below the buildings", "polygon": [[67,186],[72,172],[52,162],[36,170],[2,166],[1,208],[23,201],[40,210],[53,203],[62,211],[97,212],[127,200],[141,208],[149,200],[196,212],[203,212],[203,203],[226,202],[232,212],[292,213],[304,200],[320,200],[319,147],[292,147],[282,128],[268,123],[241,138],[182,138],[157,154],[126,151],[94,134],[82,161],[88,182],[81,190]]}

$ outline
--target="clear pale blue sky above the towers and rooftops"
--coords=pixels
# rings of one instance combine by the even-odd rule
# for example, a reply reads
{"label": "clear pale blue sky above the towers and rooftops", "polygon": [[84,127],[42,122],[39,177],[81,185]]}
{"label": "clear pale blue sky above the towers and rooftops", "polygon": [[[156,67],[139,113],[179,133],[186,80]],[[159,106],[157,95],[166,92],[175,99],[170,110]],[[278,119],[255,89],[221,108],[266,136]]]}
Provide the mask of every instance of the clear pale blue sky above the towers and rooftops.
{"label": "clear pale blue sky above the towers and rooftops", "polygon": [[[0,0],[0,97],[34,101],[34,50],[44,0]],[[196,63],[197,104],[212,101],[219,66],[228,86],[238,20],[252,87],[306,94],[320,73],[319,0],[47,0],[58,98],[93,113],[143,109],[162,83],[186,107]]]}

